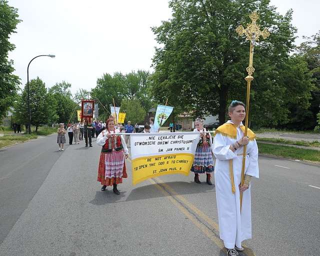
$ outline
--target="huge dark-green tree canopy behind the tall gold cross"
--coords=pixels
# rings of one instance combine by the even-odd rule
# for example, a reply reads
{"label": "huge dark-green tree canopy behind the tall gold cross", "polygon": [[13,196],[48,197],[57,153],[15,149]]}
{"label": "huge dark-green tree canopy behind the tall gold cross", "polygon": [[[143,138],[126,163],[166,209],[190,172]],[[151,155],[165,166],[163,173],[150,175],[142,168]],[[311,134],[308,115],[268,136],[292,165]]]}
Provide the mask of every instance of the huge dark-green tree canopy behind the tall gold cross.
{"label": "huge dark-green tree canopy behind the tall gold cross", "polygon": [[171,0],[169,6],[172,18],[152,28],[163,45],[153,58],[155,99],[167,97],[196,116],[218,114],[225,122],[231,99],[246,99],[249,42],[235,29],[246,27],[255,10],[270,36],[254,47],[249,119],[256,125],[287,122],[288,102],[308,106],[313,86],[306,64],[289,55],[296,32],[292,10],[282,16],[269,0]]}

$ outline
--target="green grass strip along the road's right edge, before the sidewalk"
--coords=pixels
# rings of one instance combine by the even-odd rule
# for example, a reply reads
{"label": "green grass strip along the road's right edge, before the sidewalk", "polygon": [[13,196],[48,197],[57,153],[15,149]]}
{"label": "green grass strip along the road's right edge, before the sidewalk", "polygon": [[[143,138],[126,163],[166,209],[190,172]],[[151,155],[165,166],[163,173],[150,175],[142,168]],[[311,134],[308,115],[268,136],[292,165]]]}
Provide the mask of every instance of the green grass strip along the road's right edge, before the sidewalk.
{"label": "green grass strip along the road's right edge, before the sidewalk", "polygon": [[259,153],[297,159],[301,161],[312,161],[320,163],[320,150],[304,149],[293,146],[274,145],[259,142],[257,142],[257,144],[259,148]]}

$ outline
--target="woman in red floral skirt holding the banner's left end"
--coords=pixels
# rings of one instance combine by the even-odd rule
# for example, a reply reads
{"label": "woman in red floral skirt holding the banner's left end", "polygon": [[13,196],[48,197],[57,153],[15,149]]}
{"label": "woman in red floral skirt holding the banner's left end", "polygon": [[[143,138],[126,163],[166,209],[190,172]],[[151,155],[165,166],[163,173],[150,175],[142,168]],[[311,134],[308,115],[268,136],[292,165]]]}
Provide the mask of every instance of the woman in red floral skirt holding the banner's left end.
{"label": "woman in red floral skirt holding the banner's left end", "polygon": [[128,157],[128,149],[122,135],[113,134],[120,132],[114,129],[114,119],[107,119],[105,125],[106,129],[96,138],[96,143],[102,146],[97,181],[101,182],[101,191],[113,185],[113,192],[120,194],[116,186],[127,177],[124,156]]}

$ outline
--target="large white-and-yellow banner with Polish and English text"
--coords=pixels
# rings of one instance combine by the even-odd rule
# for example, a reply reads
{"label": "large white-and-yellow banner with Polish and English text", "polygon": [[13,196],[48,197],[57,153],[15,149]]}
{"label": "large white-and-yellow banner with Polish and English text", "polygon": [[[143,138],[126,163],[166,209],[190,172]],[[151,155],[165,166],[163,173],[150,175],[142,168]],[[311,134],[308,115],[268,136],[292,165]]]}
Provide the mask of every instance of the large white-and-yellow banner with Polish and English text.
{"label": "large white-and-yellow banner with Polish and English text", "polygon": [[189,175],[198,132],[130,133],[132,185],[166,174]]}

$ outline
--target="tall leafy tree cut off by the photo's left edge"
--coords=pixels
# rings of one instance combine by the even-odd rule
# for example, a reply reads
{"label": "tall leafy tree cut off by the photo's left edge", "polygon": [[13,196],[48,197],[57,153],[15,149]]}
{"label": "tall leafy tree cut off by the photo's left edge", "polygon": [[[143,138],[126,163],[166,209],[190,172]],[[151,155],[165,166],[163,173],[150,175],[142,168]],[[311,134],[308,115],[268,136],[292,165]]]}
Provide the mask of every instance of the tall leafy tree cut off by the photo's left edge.
{"label": "tall leafy tree cut off by the photo's left edge", "polygon": [[16,25],[21,21],[17,19],[17,9],[9,6],[7,1],[0,0],[0,120],[6,116],[19,89],[19,77],[12,74],[13,60],[8,60],[8,52],[15,48],[9,42],[11,33],[15,33]]}

